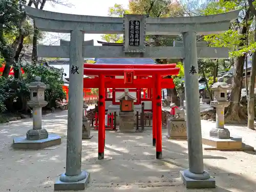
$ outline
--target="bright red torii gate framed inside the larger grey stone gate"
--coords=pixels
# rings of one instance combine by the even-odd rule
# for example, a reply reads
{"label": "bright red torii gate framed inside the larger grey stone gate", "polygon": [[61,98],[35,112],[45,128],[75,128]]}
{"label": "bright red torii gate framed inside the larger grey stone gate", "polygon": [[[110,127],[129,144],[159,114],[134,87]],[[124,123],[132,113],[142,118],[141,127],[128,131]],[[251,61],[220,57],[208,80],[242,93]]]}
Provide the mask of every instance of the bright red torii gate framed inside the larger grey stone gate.
{"label": "bright red torii gate framed inside the larger grey stone gate", "polygon": [[[105,143],[105,88],[153,88],[153,145],[156,143],[156,158],[162,158],[162,108],[161,88],[174,88],[173,79],[163,79],[167,75],[178,75],[176,64],[166,65],[115,65],[84,64],[84,75],[96,78],[84,78],[84,88],[99,88],[99,131],[98,159],[104,158]],[[124,76],[124,79],[112,79],[105,76]],[[152,76],[147,79],[134,79],[134,76]]]}

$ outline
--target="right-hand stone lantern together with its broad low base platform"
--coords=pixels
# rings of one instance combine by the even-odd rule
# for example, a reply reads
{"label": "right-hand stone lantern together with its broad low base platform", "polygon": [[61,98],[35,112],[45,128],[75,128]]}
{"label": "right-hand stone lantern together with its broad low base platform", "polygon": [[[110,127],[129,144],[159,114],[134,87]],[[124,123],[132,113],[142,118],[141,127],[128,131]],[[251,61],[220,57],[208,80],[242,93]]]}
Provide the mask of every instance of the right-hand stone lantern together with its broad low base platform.
{"label": "right-hand stone lantern together with its broad low base platform", "polygon": [[[216,82],[210,89],[214,91],[214,101],[210,105],[216,108],[216,126],[210,130],[209,138],[202,138],[203,144],[215,150],[239,150],[242,148],[241,137],[230,137],[229,130],[224,127],[224,109],[229,105],[227,90],[232,88],[226,82]],[[207,148],[209,150],[210,148]],[[206,148],[205,148],[206,150]]]}

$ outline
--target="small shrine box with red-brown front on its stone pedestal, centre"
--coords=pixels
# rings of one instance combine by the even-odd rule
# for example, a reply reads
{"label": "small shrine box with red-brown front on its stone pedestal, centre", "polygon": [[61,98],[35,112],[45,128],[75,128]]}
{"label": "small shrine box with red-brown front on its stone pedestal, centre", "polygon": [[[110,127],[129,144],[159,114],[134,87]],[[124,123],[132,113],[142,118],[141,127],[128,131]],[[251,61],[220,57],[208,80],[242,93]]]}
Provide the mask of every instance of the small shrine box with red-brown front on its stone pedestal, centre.
{"label": "small shrine box with red-brown front on its stone pedestal, centre", "polygon": [[132,96],[128,89],[124,89],[124,93],[117,97],[117,100],[120,101],[119,131],[134,131],[136,124],[134,100],[137,100],[137,98]]}

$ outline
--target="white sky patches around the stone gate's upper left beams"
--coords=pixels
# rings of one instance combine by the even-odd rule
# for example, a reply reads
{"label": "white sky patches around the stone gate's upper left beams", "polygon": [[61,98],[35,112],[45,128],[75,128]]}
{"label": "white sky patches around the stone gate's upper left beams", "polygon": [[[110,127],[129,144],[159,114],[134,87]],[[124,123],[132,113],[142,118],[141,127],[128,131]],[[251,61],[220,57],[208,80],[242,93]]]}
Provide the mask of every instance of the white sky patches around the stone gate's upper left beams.
{"label": "white sky patches around the stone gate's upper left beams", "polygon": [[[109,8],[114,6],[116,3],[123,5],[124,8],[128,8],[129,0],[58,0],[61,2],[71,3],[73,6],[66,7],[62,5],[54,5],[47,2],[44,10],[54,11],[60,13],[69,13],[77,15],[96,15],[96,16],[108,16]],[[97,40],[102,40],[101,34],[84,34],[84,40],[94,39],[94,45],[99,46]],[[54,45],[59,45],[59,39],[69,40],[68,34],[50,33],[47,38],[43,40],[43,44],[49,45],[56,42]],[[50,39],[50,40],[49,40]],[[56,68],[63,67],[66,77],[69,77],[69,66],[54,66]]]}

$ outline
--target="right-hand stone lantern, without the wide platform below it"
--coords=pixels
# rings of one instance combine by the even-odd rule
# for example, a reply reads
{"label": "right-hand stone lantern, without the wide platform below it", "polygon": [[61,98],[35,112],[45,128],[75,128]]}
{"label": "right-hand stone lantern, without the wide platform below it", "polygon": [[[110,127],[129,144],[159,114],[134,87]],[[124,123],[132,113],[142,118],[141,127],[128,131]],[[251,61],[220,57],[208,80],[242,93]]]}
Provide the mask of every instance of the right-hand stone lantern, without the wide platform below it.
{"label": "right-hand stone lantern, without the wide platform below it", "polygon": [[216,127],[210,131],[210,137],[229,139],[230,133],[224,128],[224,109],[229,105],[227,90],[232,86],[226,82],[216,82],[210,88],[214,91],[214,101],[211,101],[210,105],[216,108]]}

